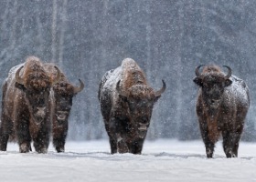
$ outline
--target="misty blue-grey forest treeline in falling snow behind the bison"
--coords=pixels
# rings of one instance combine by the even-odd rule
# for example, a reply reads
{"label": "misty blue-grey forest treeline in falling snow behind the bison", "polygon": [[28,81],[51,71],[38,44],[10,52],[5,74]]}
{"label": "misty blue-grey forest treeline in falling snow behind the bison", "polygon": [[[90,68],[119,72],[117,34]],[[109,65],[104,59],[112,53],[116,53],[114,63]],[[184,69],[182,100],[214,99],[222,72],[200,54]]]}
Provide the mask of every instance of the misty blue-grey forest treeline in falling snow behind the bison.
{"label": "misty blue-grey forest treeline in falling snow behind the bison", "polygon": [[[148,139],[200,138],[195,67],[230,66],[251,89],[243,139],[255,141],[256,4],[250,0],[2,0],[0,82],[38,56],[84,90],[73,100],[69,139],[107,138],[98,101],[103,74],[133,58],[150,86],[167,89],[155,104]],[[223,69],[224,71],[227,71]]]}

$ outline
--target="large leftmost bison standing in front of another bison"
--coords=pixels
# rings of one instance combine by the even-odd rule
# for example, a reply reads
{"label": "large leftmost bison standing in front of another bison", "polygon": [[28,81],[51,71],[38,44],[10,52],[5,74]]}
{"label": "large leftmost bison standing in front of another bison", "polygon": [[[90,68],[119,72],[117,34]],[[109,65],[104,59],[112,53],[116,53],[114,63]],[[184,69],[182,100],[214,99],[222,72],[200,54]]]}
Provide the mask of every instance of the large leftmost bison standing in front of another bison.
{"label": "large leftmost bison standing in front of another bison", "polygon": [[50,88],[59,80],[59,69],[51,79],[43,63],[29,56],[24,64],[13,67],[5,79],[0,124],[0,150],[8,139],[16,139],[21,153],[31,150],[47,153],[50,134]]}

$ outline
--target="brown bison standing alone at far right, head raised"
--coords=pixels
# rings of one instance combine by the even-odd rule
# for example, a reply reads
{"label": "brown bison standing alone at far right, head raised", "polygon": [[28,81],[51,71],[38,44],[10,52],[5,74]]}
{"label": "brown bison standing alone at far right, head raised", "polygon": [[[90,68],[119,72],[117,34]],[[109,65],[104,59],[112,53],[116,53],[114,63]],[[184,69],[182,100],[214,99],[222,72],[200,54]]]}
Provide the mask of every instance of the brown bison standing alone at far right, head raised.
{"label": "brown bison standing alone at far right, head raised", "polygon": [[243,80],[227,75],[219,66],[205,66],[202,73],[196,68],[194,82],[199,86],[197,117],[207,157],[212,157],[214,147],[223,137],[226,157],[238,157],[240,136],[250,106],[249,88]]}

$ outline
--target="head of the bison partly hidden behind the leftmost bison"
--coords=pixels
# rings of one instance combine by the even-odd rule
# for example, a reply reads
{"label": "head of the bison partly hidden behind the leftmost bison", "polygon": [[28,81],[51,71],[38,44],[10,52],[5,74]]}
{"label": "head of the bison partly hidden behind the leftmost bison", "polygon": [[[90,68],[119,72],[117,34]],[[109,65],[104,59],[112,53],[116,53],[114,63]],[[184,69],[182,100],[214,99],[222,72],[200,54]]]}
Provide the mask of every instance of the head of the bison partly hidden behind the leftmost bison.
{"label": "head of the bison partly hidden behind the leftmost bison", "polygon": [[56,116],[60,125],[68,120],[73,96],[75,96],[84,88],[83,82],[80,79],[79,81],[80,86],[72,86],[64,77],[64,79],[61,79],[57,84],[53,86],[57,103]]}

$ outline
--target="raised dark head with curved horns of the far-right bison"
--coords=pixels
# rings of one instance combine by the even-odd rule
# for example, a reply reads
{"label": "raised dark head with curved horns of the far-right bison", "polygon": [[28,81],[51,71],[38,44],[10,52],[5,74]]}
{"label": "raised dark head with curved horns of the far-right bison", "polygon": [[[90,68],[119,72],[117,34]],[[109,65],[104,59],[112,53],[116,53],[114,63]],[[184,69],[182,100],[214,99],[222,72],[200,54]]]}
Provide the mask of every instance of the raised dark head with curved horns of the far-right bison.
{"label": "raised dark head with curved horns of the far-right bison", "polygon": [[225,87],[232,84],[229,79],[232,70],[229,66],[224,66],[229,70],[228,75],[225,75],[219,66],[206,66],[200,74],[200,67],[197,66],[196,77],[193,81],[202,88],[202,95],[209,106],[219,106]]}

